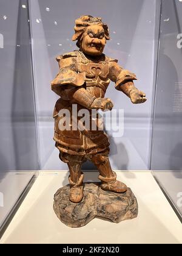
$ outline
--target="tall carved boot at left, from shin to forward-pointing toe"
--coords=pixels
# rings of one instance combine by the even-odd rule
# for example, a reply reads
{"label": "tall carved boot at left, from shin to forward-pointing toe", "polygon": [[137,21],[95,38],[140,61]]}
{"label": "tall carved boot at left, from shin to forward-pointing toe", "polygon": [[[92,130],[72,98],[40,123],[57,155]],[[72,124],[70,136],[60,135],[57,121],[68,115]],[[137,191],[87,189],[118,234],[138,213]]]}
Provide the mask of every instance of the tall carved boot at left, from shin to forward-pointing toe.
{"label": "tall carved boot at left, from shin to forward-pointing toe", "polygon": [[83,179],[84,174],[80,171],[82,162],[67,163],[70,170],[69,182],[70,193],[69,200],[78,203],[83,199]]}

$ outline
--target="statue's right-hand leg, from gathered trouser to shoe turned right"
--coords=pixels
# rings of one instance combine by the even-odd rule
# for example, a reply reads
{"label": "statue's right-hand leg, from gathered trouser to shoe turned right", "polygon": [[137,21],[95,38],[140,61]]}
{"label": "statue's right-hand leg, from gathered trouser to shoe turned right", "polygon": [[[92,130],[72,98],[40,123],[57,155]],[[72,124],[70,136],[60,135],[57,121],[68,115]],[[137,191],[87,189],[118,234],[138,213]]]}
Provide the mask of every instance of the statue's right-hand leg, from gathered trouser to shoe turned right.
{"label": "statue's right-hand leg, from gathered trouser to shoe turned right", "polygon": [[108,154],[109,150],[92,157],[92,162],[99,171],[98,179],[101,180],[101,188],[103,190],[124,193],[127,190],[127,186],[123,182],[116,180],[116,173],[111,169]]}

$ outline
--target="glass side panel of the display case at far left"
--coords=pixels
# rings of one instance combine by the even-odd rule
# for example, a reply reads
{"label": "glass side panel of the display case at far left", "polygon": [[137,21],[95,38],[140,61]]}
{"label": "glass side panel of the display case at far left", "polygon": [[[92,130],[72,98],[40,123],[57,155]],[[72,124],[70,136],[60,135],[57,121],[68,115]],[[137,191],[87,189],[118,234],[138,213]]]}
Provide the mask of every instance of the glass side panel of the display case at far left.
{"label": "glass side panel of the display case at far left", "polygon": [[27,1],[0,2],[0,226],[39,169]]}

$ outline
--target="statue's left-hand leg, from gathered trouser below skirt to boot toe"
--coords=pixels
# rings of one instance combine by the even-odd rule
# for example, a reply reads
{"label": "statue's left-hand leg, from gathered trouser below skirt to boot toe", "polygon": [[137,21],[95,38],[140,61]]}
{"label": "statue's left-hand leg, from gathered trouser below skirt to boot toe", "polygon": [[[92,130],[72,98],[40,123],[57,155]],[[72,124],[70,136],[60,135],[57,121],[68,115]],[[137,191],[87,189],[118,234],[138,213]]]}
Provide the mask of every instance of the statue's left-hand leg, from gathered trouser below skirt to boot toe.
{"label": "statue's left-hand leg, from gathered trouser below skirt to boot toe", "polygon": [[66,153],[59,154],[59,158],[67,163],[69,166],[70,176],[70,193],[69,199],[72,202],[78,203],[83,199],[83,179],[84,174],[81,172],[81,165],[83,163],[83,157],[78,155],[69,155]]}

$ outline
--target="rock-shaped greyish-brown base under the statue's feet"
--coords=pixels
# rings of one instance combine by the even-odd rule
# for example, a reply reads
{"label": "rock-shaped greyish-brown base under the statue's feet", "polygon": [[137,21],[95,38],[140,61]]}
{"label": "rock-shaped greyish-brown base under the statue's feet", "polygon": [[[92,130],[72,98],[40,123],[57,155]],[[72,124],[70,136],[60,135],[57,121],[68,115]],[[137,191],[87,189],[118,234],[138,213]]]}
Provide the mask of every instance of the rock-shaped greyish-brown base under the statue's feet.
{"label": "rock-shaped greyish-brown base under the statue's feet", "polygon": [[70,185],[59,188],[53,202],[58,218],[69,227],[83,227],[96,216],[116,223],[136,218],[138,204],[130,188],[121,194],[104,191],[99,185],[84,183],[84,197],[79,203],[69,201]]}

